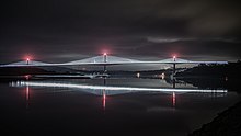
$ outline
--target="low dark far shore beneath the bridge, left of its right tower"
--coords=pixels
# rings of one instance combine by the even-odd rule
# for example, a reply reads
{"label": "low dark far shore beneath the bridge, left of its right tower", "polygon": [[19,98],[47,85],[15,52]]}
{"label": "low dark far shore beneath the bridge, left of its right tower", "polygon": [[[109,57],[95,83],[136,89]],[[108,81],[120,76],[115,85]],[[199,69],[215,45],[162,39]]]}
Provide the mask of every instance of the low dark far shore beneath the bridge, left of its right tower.
{"label": "low dark far shore beneath the bridge, left of its right tower", "polygon": [[[24,76],[24,75],[83,75],[83,73],[102,73],[103,70],[76,70],[67,67],[8,67],[0,68],[0,76]],[[145,71],[125,71],[125,70],[110,70],[108,75],[114,77],[140,77],[157,78],[161,73],[170,76],[172,69],[161,70],[145,70]]]}

